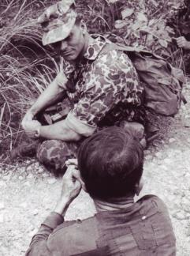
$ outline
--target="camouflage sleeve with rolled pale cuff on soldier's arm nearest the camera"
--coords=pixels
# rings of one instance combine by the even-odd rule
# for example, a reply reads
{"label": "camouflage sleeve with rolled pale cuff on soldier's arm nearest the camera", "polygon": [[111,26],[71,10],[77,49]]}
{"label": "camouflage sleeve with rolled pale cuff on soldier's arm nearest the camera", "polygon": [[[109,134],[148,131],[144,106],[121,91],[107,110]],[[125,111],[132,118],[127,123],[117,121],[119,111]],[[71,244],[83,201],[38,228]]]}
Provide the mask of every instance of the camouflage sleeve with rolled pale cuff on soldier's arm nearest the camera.
{"label": "camouflage sleeve with rolled pale cuff on soldier's arm nearest the camera", "polygon": [[138,92],[142,89],[128,56],[118,56],[116,51],[103,55],[87,73],[80,100],[67,119],[68,125],[79,134],[91,134],[106,113],[121,100],[138,102]]}

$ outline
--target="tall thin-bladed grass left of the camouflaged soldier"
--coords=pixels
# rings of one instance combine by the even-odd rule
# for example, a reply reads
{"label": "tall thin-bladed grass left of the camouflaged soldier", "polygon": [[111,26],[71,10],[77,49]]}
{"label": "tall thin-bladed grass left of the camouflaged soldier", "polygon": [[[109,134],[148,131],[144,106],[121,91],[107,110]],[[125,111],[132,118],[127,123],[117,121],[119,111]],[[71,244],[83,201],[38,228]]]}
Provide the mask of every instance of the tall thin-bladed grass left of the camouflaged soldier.
{"label": "tall thin-bladed grass left of the camouflaged soldier", "polygon": [[[26,109],[54,78],[58,65],[41,45],[36,17],[52,1],[0,3],[0,162],[24,136]],[[47,65],[48,61],[48,65]]]}

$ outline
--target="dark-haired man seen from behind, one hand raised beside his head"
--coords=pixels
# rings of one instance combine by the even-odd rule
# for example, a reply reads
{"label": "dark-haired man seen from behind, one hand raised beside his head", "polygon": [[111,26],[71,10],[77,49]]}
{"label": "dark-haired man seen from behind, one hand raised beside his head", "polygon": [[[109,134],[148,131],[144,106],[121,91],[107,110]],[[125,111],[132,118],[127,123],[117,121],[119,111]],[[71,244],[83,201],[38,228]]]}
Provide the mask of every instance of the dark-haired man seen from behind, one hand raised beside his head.
{"label": "dark-haired man seen from behind, one hand raised beside his head", "polygon": [[[80,145],[77,160],[77,167],[69,160],[61,197],[32,238],[27,256],[176,254],[163,201],[155,195],[134,201],[143,186],[143,148],[132,134],[119,127],[101,130]],[[81,188],[97,213],[82,221],[64,221]]]}

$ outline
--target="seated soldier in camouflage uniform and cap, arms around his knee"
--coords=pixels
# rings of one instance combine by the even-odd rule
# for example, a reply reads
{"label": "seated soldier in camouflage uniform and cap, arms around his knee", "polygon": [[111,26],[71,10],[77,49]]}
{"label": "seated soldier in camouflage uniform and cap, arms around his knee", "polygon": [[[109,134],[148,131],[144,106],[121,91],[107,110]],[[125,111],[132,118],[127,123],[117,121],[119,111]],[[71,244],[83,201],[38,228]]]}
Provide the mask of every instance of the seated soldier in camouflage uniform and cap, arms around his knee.
{"label": "seated soldier in camouflage uniform and cap, arms around his knee", "polygon": [[[122,51],[107,51],[109,40],[90,35],[73,2],[60,1],[39,17],[43,45],[54,47],[65,66],[22,121],[26,133],[41,142],[38,147],[34,143],[39,162],[58,172],[65,159],[76,156],[80,141],[102,127],[127,123],[128,129],[133,123],[132,129],[137,127],[142,138],[145,122],[143,87],[129,57]],[[66,119],[49,125],[36,120],[40,111],[65,95],[71,105]],[[27,149],[31,154],[32,148],[24,145],[11,152],[12,159],[27,155]]]}

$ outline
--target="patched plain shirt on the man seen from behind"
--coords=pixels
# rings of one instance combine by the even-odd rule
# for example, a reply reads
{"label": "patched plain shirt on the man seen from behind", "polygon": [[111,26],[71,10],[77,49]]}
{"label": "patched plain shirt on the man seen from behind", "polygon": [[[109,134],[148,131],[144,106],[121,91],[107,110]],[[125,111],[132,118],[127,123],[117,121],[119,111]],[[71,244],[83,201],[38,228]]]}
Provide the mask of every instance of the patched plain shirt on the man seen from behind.
{"label": "patched plain shirt on the man seen from behind", "polygon": [[174,256],[175,236],[166,205],[147,195],[126,209],[86,220],[51,213],[32,238],[27,256]]}

